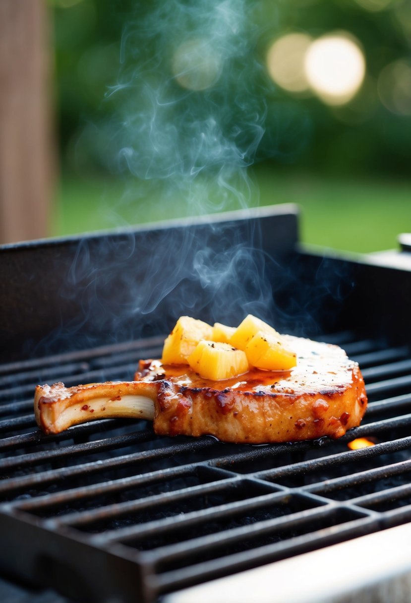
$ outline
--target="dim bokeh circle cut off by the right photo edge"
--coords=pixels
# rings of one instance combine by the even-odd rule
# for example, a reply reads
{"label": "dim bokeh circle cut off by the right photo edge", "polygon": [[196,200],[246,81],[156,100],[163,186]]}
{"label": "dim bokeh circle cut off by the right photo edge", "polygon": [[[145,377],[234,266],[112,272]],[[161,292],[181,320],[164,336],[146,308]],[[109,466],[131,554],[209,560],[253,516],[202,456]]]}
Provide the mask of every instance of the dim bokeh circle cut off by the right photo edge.
{"label": "dim bokeh circle cut off by the right photo edge", "polygon": [[378,78],[381,103],[397,115],[411,115],[411,64],[406,60],[390,63]]}

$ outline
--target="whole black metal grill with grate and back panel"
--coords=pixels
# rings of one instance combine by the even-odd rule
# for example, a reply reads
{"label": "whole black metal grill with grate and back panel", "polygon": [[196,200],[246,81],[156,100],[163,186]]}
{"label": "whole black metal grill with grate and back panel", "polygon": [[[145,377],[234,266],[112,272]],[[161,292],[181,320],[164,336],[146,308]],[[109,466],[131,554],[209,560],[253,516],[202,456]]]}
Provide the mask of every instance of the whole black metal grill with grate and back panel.
{"label": "whole black metal grill with grate and back panel", "polygon": [[[205,250],[219,271],[234,253],[253,267],[242,299],[230,279],[209,295],[193,276]],[[267,564],[275,572],[281,560],[411,521],[406,247],[324,256],[300,245],[287,205],[8,245],[0,276],[0,567],[22,601],[44,589],[74,601],[192,601],[184,590],[195,585]],[[181,308],[235,323],[244,308],[259,312],[267,283],[279,330],[337,343],[360,363],[369,409],[359,428],[270,446],[157,437],[145,421],[37,430],[37,383],[130,379],[140,358],[160,355]],[[148,292],[160,285],[154,305]],[[349,449],[358,438],[372,445]]]}

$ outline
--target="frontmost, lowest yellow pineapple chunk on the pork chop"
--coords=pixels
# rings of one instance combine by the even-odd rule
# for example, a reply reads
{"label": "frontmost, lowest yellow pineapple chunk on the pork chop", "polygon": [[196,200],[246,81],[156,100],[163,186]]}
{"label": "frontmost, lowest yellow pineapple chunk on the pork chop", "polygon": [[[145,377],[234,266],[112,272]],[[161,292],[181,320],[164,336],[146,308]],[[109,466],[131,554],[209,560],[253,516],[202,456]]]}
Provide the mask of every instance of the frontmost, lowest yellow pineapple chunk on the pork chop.
{"label": "frontmost, lowest yellow pineapple chunk on the pork chop", "polygon": [[189,356],[190,367],[204,379],[230,379],[248,371],[245,352],[227,343],[202,340]]}

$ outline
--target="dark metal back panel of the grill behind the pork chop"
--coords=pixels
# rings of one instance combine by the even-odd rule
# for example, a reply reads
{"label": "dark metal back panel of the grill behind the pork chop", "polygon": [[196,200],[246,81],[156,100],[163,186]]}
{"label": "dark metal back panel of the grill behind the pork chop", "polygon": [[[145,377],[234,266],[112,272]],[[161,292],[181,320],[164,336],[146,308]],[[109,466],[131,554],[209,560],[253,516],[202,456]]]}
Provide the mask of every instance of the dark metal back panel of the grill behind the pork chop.
{"label": "dark metal back panel of the grill behind the pork chop", "polygon": [[[230,295],[233,279],[207,293],[198,260],[214,265],[214,279],[221,266],[227,269],[225,262],[239,262],[244,278],[242,268],[263,271],[265,257],[287,256],[297,238],[296,210],[284,206],[220,214],[207,222],[4,245],[0,361],[163,333],[184,305],[207,317],[216,303],[221,313],[224,295],[232,314],[240,312]],[[260,276],[256,272],[245,283],[243,301],[258,297]]]}

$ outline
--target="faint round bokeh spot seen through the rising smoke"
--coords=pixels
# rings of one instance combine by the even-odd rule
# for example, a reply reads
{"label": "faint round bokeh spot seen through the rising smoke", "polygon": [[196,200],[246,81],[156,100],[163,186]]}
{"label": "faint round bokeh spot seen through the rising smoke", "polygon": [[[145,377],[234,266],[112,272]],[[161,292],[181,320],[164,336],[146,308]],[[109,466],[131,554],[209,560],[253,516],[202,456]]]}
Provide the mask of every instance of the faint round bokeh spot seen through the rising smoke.
{"label": "faint round bokeh spot seen through the rising smoke", "polygon": [[221,57],[210,42],[196,38],[184,42],[172,58],[171,69],[183,88],[205,90],[216,83],[221,74]]}

